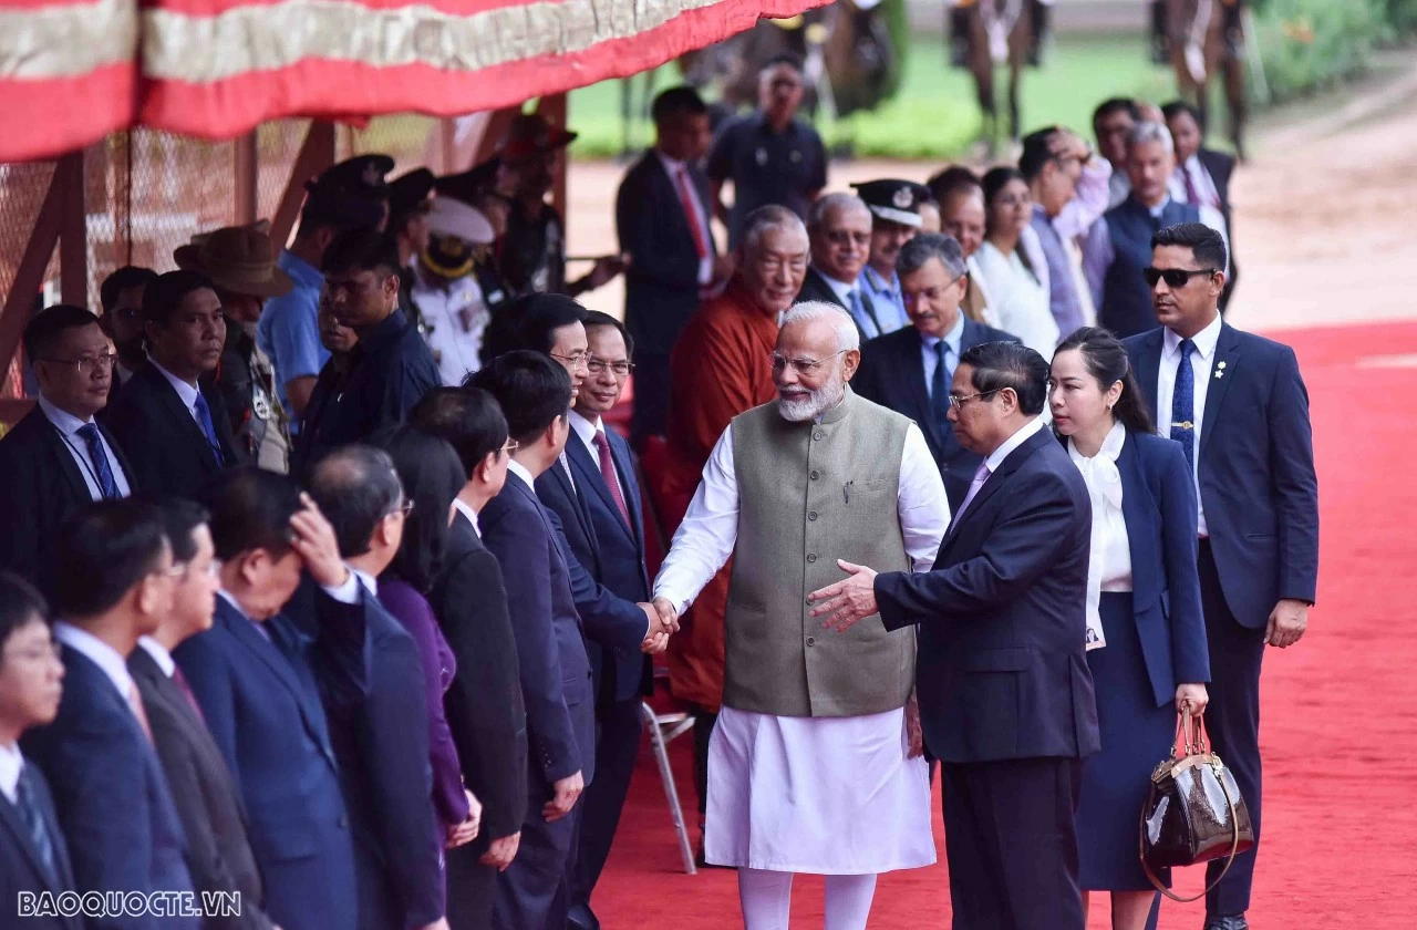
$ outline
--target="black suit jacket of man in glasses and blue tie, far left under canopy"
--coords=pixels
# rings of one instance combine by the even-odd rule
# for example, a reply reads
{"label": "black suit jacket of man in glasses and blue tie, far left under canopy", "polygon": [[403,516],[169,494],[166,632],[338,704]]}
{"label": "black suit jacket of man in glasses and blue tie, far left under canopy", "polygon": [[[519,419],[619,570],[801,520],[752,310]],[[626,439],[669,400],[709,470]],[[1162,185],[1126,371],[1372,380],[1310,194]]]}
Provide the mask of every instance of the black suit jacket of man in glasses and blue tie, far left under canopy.
{"label": "black suit jacket of man in glasses and blue tie, far left under canopy", "polygon": [[[99,425],[113,456],[109,468],[122,471],[129,488],[133,469],[118,439]],[[48,587],[45,567],[64,519],[92,503],[94,495],[60,431],[35,407],[0,438],[0,509],[6,532],[0,533],[0,568]]]}

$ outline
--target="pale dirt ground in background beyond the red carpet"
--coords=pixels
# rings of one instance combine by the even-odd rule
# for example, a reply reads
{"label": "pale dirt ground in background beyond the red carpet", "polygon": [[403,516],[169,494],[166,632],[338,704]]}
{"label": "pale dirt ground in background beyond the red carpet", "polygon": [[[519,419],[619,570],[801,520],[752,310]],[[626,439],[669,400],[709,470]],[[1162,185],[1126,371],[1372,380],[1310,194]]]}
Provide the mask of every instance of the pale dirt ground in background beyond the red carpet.
{"label": "pale dirt ground in background beyond the red carpet", "polygon": [[[1264,330],[1417,316],[1417,71],[1281,113],[1255,129],[1251,147],[1231,191],[1241,279],[1230,319]],[[830,189],[873,177],[924,180],[938,167],[837,162]],[[612,162],[571,167],[572,255],[615,248],[623,172]],[[623,310],[619,281],[582,299],[616,316]]]}

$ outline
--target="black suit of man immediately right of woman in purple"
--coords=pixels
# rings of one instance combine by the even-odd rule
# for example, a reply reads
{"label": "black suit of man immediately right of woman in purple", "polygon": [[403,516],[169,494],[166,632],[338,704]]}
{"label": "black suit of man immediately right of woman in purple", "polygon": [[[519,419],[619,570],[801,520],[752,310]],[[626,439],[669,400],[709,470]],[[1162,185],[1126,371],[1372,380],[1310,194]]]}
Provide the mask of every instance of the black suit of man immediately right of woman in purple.
{"label": "black suit of man immediately right of woman in purple", "polygon": [[490,841],[521,829],[527,729],[502,568],[462,513],[453,517],[428,601],[458,661],[444,696],[448,729],[468,788],[482,801],[478,839],[448,851],[448,923],[452,930],[486,930],[497,870],[478,858]]}

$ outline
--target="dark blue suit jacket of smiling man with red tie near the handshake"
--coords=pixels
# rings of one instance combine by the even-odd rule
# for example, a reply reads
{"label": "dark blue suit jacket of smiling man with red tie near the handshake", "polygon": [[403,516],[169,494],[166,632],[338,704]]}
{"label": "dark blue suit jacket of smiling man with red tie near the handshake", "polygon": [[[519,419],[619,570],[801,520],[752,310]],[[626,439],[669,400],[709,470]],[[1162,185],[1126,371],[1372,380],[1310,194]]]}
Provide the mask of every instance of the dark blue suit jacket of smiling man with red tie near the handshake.
{"label": "dark blue suit jacket of smiling man with red tie near the handshake", "polygon": [[626,495],[633,495],[626,496],[625,505],[632,508],[635,527],[625,526],[601,476],[599,462],[591,458],[574,428],[565,441],[565,458],[575,486],[560,462],[536,481],[537,498],[554,517],[571,553],[567,561],[571,594],[585,627],[585,651],[601,702],[629,700],[643,692],[646,656],[639,646],[648,622],[639,604],[649,600],[639,485],[629,447],[618,435],[611,435],[609,444],[621,486]]}

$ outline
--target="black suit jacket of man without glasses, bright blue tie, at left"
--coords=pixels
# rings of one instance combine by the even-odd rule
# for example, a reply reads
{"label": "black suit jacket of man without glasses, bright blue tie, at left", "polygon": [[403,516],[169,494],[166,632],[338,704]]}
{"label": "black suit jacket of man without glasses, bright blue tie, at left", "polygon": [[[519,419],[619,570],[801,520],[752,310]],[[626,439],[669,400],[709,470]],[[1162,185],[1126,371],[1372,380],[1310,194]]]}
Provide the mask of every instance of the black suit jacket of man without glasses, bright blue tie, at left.
{"label": "black suit jacket of man without glasses, bright blue tie, at left", "polygon": [[249,459],[231,437],[231,418],[221,391],[203,386],[221,455],[183,404],[177,390],[153,364],[133,373],[102,415],[132,462],[133,491],[170,498],[198,496],[214,475]]}

